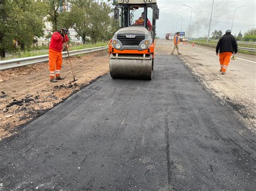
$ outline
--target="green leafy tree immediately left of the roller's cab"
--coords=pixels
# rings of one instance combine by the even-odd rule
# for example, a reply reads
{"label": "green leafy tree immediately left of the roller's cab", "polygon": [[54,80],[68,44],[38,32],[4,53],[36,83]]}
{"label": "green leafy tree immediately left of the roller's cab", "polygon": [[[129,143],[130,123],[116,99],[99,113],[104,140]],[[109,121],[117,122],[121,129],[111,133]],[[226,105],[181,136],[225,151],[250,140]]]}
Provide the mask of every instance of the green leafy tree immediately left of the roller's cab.
{"label": "green leafy tree immediately left of the roller's cab", "polygon": [[116,29],[116,23],[110,16],[111,12],[111,6],[106,3],[73,1],[68,15],[69,23],[66,24],[72,25],[78,37],[82,37],[83,43],[109,40]]}

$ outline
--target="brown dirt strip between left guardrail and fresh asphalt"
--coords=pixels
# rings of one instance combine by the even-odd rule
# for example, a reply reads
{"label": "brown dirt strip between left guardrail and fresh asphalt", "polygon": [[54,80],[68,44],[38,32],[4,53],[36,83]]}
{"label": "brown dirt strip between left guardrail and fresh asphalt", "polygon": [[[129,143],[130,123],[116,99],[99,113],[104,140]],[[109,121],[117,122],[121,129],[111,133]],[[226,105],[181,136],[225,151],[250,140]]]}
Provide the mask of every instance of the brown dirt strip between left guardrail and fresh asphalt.
{"label": "brown dirt strip between left guardrail and fresh asphalt", "polygon": [[56,83],[49,82],[48,62],[0,71],[0,140],[109,72],[106,51],[72,57],[71,62],[78,79],[73,83],[67,59],[61,71],[66,78]]}

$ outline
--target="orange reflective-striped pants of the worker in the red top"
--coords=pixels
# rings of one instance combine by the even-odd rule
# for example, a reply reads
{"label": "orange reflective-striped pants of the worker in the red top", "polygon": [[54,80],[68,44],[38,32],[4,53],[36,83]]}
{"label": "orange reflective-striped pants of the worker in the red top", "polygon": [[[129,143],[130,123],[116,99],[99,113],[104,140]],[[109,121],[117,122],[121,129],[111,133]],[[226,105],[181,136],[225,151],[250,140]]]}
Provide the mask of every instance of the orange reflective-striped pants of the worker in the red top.
{"label": "orange reflective-striped pants of the worker in the red top", "polygon": [[54,79],[54,74],[56,77],[60,76],[60,69],[62,69],[62,52],[49,49],[50,79]]}

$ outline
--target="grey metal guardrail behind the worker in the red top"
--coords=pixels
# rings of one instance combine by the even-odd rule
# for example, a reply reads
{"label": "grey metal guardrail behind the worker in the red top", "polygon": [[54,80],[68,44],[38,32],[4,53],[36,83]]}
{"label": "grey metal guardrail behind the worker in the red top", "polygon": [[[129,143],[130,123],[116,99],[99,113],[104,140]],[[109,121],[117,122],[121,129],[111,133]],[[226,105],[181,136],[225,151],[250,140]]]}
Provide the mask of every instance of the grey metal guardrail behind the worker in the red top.
{"label": "grey metal guardrail behind the worker in the red top", "polygon": [[[95,48],[78,49],[76,51],[70,51],[69,55],[75,56],[79,54],[102,51],[103,49],[107,49],[108,47],[109,46],[100,46]],[[66,58],[66,57],[68,57],[68,52],[62,52],[62,58]],[[17,68],[21,66],[28,66],[28,65],[33,65],[35,63],[47,62],[47,61],[49,61],[49,54],[31,56],[31,57],[19,58],[19,59],[3,60],[3,61],[0,61],[0,70]]]}

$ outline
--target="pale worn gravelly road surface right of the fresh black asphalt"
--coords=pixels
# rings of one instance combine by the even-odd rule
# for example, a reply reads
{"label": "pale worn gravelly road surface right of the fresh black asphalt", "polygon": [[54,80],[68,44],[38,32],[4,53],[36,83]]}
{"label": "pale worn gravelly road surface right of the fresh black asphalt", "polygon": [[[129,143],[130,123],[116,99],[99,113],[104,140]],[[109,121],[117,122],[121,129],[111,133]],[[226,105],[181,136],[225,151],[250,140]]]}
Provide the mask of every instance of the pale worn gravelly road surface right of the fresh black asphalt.
{"label": "pale worn gravelly road surface right of the fresh black asphalt", "polygon": [[[222,104],[229,104],[238,112],[238,117],[244,121],[247,128],[256,133],[255,128],[255,70],[256,56],[237,54],[237,59],[230,62],[225,75],[219,72],[219,58],[215,49],[196,45],[180,46],[180,59],[198,76],[213,95],[220,98]],[[170,54],[173,41],[158,41],[158,54]],[[177,52],[174,52],[177,56]]]}

